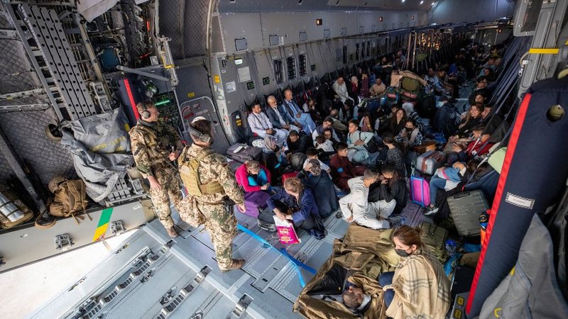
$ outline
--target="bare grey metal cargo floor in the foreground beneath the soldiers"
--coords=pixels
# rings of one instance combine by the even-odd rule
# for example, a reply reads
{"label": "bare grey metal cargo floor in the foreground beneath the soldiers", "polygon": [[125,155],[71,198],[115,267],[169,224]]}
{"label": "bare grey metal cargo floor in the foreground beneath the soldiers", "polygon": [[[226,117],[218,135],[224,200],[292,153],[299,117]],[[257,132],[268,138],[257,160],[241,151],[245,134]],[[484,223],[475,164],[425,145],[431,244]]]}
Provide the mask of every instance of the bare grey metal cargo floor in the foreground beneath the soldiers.
{"label": "bare grey metal cargo floor in the foreground beneath the soldiers", "polygon": [[[425,220],[419,206],[403,211],[408,225]],[[258,228],[256,218],[236,213],[245,228],[283,247],[278,235]],[[175,216],[176,219],[178,216]],[[316,240],[305,231],[302,242],[288,247],[290,255],[319,269],[332,252],[335,238],[348,223],[334,215],[325,220],[327,236]],[[293,262],[239,230],[236,258],[241,270],[220,272],[209,234],[203,226],[178,223],[173,240],[158,220],[138,230],[98,267],[35,310],[32,318],[301,318],[292,306],[302,287]],[[301,270],[305,282],[313,274]]]}

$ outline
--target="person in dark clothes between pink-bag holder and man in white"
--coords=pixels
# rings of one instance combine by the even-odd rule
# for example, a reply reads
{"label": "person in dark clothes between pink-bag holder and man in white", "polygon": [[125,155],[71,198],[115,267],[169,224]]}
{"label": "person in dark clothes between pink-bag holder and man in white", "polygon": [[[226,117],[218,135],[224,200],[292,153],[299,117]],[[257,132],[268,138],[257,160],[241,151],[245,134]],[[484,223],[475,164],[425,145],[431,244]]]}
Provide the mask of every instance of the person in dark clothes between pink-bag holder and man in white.
{"label": "person in dark clothes between pink-bag holder and man in white", "polygon": [[339,201],[331,177],[320,164],[317,159],[308,159],[297,178],[302,179],[304,186],[312,191],[320,216],[327,218],[337,211]]}

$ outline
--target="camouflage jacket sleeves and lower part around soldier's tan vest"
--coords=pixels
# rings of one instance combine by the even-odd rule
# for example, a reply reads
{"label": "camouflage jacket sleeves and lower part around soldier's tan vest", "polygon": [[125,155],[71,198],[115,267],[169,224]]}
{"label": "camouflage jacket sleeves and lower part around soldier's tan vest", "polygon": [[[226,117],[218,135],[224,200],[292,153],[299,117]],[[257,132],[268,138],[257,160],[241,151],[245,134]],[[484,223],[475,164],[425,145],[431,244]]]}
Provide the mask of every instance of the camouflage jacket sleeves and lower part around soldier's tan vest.
{"label": "camouflage jacket sleeves and lower part around soldier's tan vest", "polygon": [[[185,153],[185,158],[180,156],[178,162],[190,161],[192,158],[197,157],[204,147],[192,144]],[[221,193],[217,194],[204,194],[203,196],[197,197],[197,201],[202,203],[222,203],[225,195],[229,196],[232,201],[237,205],[244,203],[244,194],[238,184],[229,167],[227,165],[226,157],[219,155],[217,153],[212,153],[202,159],[198,169],[200,181],[202,184],[207,184],[211,181],[217,181],[223,187]]]}

